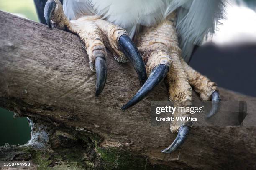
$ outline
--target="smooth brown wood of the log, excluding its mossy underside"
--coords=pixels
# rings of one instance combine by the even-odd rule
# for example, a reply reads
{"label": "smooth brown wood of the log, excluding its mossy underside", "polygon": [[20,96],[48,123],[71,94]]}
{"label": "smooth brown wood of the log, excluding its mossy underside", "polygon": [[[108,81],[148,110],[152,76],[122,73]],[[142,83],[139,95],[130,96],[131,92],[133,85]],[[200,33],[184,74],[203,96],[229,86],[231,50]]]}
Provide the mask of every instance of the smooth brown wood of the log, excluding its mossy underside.
{"label": "smooth brown wood of the log, excluding its mossy underside", "polygon": [[[194,127],[179,150],[163,154],[177,135],[151,125],[151,101],[168,100],[164,83],[123,112],[140,88],[131,64],[108,54],[107,82],[95,97],[96,75],[76,35],[4,12],[0,20],[0,107],[97,133],[104,138],[100,146],[134,150],[151,165],[256,169],[255,127]],[[256,100],[223,89],[220,94],[223,100]],[[195,93],[192,98],[199,100]],[[255,111],[255,103],[248,105]]]}

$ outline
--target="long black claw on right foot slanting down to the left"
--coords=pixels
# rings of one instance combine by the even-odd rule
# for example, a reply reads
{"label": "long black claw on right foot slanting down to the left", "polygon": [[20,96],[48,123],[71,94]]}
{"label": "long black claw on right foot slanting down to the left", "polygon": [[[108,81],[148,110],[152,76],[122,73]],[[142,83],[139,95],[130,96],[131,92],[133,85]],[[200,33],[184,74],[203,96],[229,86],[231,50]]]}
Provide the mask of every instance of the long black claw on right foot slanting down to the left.
{"label": "long black claw on right foot slanting down to the left", "polygon": [[162,80],[164,80],[165,76],[167,75],[169,71],[169,67],[164,64],[160,64],[152,70],[150,73],[148,80],[145,82],[145,84],[141,87],[141,89],[136,93],[136,95],[133,96],[133,98],[124,105],[121,109],[125,110],[139,101],[141,101],[144,97],[148,95],[151,90],[153,90],[156,85],[159,84]]}

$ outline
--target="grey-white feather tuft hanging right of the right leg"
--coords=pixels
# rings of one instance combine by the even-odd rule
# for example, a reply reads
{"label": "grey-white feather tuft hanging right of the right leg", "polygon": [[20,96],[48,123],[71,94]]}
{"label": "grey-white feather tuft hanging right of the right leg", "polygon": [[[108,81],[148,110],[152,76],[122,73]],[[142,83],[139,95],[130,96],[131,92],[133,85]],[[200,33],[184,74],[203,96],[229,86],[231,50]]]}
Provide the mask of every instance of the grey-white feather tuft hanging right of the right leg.
{"label": "grey-white feather tuft hanging right of the right leg", "polygon": [[201,45],[207,36],[214,34],[224,17],[224,5],[224,0],[193,0],[189,8],[179,8],[176,28],[185,61],[189,61],[194,45]]}

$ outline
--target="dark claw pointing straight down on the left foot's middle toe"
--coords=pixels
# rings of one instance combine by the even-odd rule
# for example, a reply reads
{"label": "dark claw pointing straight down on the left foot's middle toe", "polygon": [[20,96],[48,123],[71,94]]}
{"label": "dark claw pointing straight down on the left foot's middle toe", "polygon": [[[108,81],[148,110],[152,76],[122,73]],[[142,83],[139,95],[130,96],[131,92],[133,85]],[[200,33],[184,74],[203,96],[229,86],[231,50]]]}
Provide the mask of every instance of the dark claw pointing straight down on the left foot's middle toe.
{"label": "dark claw pointing straight down on the left foot's middle toe", "polygon": [[95,64],[95,70],[96,70],[96,76],[97,76],[95,96],[98,97],[102,92],[106,83],[107,65],[106,65],[106,60],[103,59],[102,57],[96,57],[94,64]]}

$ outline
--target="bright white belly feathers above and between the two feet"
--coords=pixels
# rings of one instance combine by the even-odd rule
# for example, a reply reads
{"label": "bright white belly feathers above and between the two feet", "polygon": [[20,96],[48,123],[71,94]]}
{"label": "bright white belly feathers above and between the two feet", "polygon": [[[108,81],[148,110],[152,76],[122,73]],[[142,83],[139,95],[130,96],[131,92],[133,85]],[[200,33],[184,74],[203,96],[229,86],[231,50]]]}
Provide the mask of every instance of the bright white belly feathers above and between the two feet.
{"label": "bright white belly feathers above and between the two feet", "polygon": [[123,28],[150,26],[162,20],[166,0],[89,0],[97,15]]}

